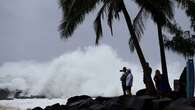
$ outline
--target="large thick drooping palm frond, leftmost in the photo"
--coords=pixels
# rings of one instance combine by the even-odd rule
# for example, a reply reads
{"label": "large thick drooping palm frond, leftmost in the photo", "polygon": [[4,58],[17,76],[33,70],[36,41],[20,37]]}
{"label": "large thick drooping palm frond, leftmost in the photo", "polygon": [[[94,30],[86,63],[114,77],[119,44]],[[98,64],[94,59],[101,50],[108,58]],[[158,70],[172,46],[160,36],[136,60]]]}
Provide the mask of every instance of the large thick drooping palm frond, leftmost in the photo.
{"label": "large thick drooping palm frond, leftmost in the photo", "polygon": [[69,38],[97,3],[99,0],[60,0],[59,4],[63,11],[63,19],[59,27],[61,37]]}

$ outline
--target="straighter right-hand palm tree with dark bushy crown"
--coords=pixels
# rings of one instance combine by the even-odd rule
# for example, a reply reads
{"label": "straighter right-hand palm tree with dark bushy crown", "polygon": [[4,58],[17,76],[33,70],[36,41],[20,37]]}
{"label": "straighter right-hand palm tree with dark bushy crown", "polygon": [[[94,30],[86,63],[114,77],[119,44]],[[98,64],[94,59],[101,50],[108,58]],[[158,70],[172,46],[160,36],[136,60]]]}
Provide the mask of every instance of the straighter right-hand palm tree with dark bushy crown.
{"label": "straighter right-hand palm tree with dark bushy crown", "polygon": [[145,0],[145,2],[137,0],[136,2],[140,7],[144,7],[144,12],[149,13],[153,21],[157,24],[162,66],[162,81],[165,84],[164,92],[170,92],[171,87],[168,80],[162,27],[167,27],[168,24],[171,24],[170,20],[173,19],[172,3],[170,0]]}

